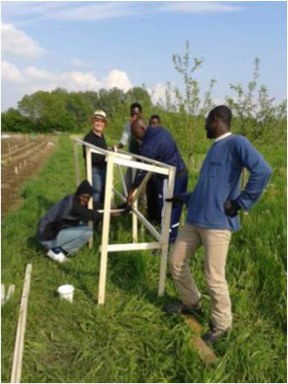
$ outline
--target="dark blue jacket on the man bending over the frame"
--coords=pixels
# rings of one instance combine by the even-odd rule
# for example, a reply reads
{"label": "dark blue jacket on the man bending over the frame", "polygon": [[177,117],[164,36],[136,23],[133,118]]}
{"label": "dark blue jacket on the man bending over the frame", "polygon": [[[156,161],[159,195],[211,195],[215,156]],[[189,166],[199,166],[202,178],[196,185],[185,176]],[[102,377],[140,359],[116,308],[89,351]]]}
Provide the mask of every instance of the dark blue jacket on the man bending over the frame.
{"label": "dark blue jacket on the man bending over the frame", "polygon": [[[176,176],[180,172],[186,170],[186,165],[180,155],[177,145],[167,131],[163,127],[148,127],[140,147],[140,155],[149,159],[160,161],[161,163],[173,165],[176,167]],[[137,173],[134,187],[139,186],[145,176],[145,171]]]}

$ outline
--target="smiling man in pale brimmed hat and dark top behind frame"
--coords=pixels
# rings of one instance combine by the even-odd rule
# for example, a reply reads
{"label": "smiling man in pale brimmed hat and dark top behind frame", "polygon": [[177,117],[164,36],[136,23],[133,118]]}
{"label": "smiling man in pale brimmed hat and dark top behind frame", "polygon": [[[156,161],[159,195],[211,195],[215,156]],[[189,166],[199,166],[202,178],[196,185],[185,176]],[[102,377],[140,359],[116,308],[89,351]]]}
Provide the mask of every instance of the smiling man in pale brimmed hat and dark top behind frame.
{"label": "smiling man in pale brimmed hat and dark top behind frame", "polygon": [[[84,137],[83,141],[107,149],[103,130],[107,125],[106,113],[101,110],[94,112],[91,118],[92,130]],[[83,156],[86,159],[85,146]],[[105,156],[92,153],[92,177],[93,177],[93,202],[103,203],[106,180],[106,161]]]}

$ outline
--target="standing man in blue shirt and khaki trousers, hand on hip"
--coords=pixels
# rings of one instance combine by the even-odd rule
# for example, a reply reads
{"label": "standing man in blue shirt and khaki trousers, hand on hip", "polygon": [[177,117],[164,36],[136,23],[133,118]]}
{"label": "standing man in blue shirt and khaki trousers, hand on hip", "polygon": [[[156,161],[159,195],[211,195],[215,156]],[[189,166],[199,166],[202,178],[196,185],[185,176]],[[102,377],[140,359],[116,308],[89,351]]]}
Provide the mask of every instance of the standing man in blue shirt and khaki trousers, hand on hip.
{"label": "standing man in blue shirt and khaki trousers, hand on hip", "polygon": [[[210,111],[205,129],[215,139],[203,162],[193,192],[166,201],[185,202],[188,213],[169,256],[170,271],[181,302],[164,306],[166,313],[201,310],[201,294],[190,273],[189,262],[196,249],[204,247],[204,273],[211,298],[212,327],[202,338],[208,343],[226,335],[232,327],[231,302],[225,264],[231,232],[238,231],[240,209],[248,211],[268,183],[271,168],[243,136],[230,132],[232,113],[226,106]],[[250,176],[240,191],[243,168]]]}

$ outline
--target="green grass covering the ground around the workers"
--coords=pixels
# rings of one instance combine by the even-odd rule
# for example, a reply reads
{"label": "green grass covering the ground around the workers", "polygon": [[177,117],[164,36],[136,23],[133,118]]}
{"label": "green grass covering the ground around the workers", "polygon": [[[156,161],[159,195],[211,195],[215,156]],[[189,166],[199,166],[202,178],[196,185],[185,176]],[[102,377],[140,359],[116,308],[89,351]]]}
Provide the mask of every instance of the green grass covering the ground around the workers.
{"label": "green grass covering the ground around the workers", "polygon": [[[109,255],[106,304],[97,306],[100,230],[63,265],[44,257],[35,243],[39,218],[75,189],[73,145],[66,136],[41,173],[23,190],[23,205],[2,222],[2,283],[15,284],[2,307],[2,382],[10,381],[25,266],[33,264],[23,359],[23,383],[277,382],[286,383],[286,144],[259,148],[272,180],[242,230],[233,235],[227,279],[234,328],[215,346],[208,366],[191,346],[182,318],[167,317],[163,303],[176,298],[170,276],[157,297],[159,259],[149,252]],[[195,153],[195,164],[206,148]],[[198,161],[198,160],[199,161]],[[190,187],[197,179],[190,172]],[[130,218],[113,219],[111,237],[129,241]],[[143,235],[144,236],[144,235]],[[209,297],[200,250],[191,263],[203,293],[208,328]],[[75,286],[73,304],[60,301],[59,285]]]}

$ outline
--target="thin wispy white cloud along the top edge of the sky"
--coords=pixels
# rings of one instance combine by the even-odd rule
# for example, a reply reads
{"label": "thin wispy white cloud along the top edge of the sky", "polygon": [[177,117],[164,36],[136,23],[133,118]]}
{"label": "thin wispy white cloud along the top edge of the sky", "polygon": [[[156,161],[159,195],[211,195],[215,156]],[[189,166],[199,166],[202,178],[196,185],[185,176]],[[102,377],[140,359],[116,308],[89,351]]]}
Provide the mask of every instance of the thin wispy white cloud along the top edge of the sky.
{"label": "thin wispy white cloud along the top edge of the sky", "polygon": [[[13,4],[14,3],[14,4]],[[153,4],[152,4],[153,3]],[[215,13],[235,12],[238,5],[225,1],[33,1],[3,2],[2,13],[5,20],[27,22],[31,20],[59,20],[64,22],[89,22],[123,18],[127,16],[173,13]]]}

